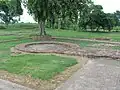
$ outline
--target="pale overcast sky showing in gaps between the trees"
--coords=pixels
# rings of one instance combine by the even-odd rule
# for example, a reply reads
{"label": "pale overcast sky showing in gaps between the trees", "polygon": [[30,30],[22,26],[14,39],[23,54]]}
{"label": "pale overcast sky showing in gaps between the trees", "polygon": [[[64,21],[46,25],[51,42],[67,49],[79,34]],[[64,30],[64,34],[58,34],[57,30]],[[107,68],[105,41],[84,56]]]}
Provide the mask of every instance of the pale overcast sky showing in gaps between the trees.
{"label": "pale overcast sky showing in gaps between the trees", "polygon": [[[102,5],[106,13],[115,12],[120,10],[120,0],[93,0],[95,4]],[[33,18],[24,9],[24,13],[21,16],[22,22],[35,22]]]}

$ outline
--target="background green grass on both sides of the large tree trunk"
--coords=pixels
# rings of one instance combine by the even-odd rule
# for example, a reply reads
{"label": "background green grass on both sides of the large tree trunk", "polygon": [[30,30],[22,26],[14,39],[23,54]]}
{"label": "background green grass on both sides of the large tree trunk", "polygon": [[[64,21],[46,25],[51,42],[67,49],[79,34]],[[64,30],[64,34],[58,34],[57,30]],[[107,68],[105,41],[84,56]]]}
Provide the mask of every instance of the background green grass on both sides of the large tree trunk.
{"label": "background green grass on both sides of the large tree trunk", "polygon": [[[116,27],[117,28],[117,27]],[[109,38],[113,41],[120,41],[120,32],[78,32],[72,30],[56,30],[56,29],[49,29],[46,28],[48,34],[52,36],[59,36],[59,37],[73,37],[73,38]],[[37,24],[15,24],[10,25],[7,29],[0,29],[0,34],[2,33],[16,33],[22,32],[22,34],[26,34],[27,36],[31,34],[39,34],[39,30],[37,28]],[[26,33],[25,33],[26,32]]]}

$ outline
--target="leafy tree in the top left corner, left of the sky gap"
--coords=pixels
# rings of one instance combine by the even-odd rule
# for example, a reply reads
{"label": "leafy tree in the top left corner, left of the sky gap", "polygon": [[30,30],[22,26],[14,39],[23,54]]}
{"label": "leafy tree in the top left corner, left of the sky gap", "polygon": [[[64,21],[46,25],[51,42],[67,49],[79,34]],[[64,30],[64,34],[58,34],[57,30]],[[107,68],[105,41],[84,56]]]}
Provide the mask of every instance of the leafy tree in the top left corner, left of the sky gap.
{"label": "leafy tree in the top left corner, left of the sky gap", "polygon": [[0,1],[0,18],[6,25],[15,22],[14,17],[22,15],[20,0],[1,0]]}

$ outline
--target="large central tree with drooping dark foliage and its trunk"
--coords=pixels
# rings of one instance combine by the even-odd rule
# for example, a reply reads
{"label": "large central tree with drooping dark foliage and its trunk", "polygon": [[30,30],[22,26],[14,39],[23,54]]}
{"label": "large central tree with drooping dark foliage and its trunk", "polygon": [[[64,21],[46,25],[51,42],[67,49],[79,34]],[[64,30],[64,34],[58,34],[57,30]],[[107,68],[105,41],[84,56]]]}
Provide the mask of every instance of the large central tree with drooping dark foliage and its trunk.
{"label": "large central tree with drooping dark foliage and its trunk", "polygon": [[24,1],[29,13],[35,17],[39,24],[40,35],[46,35],[45,22],[50,20],[54,24],[55,21],[61,21],[64,28],[65,19],[77,23],[79,11],[82,10],[84,4],[90,0],[26,0]]}

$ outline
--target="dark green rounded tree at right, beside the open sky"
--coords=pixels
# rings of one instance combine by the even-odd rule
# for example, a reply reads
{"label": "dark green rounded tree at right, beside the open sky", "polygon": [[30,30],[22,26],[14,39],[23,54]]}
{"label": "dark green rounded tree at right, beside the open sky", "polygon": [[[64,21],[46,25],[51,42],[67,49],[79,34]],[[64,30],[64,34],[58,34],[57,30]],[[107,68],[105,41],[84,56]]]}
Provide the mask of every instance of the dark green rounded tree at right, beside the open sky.
{"label": "dark green rounded tree at right, beside the open sky", "polygon": [[101,5],[93,5],[88,18],[82,23],[84,29],[87,26],[90,27],[91,31],[99,31],[100,27],[104,30],[108,29],[109,31],[113,28],[113,16],[111,14],[106,14],[103,12],[103,7]]}

